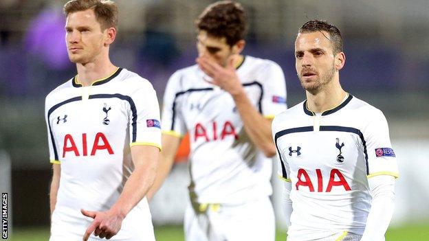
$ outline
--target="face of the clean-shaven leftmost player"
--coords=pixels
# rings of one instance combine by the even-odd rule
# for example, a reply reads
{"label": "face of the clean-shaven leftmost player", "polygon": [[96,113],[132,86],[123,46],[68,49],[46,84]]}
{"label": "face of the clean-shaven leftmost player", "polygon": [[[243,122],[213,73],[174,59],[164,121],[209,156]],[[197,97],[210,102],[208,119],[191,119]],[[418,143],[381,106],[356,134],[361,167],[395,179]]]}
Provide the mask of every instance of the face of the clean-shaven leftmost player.
{"label": "face of the clean-shaven leftmost player", "polygon": [[107,30],[101,30],[94,10],[70,13],[65,31],[67,51],[72,62],[85,65],[100,57],[106,43]]}

